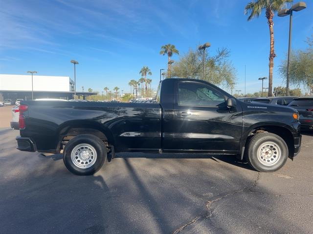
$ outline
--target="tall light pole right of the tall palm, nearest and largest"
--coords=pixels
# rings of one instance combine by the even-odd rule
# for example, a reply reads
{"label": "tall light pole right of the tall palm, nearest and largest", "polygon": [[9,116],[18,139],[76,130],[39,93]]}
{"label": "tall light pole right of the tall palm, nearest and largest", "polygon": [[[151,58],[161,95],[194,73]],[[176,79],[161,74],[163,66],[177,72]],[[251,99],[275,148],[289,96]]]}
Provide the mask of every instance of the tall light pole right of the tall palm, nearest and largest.
{"label": "tall light pole right of the tall palm, nearest and largest", "polygon": [[278,16],[284,17],[290,15],[289,21],[289,44],[288,44],[288,59],[287,59],[287,80],[286,80],[286,96],[289,96],[289,62],[290,62],[290,51],[291,51],[291,30],[292,30],[292,11],[301,11],[307,8],[304,1],[300,1],[291,6],[290,9],[282,9],[278,12]]}

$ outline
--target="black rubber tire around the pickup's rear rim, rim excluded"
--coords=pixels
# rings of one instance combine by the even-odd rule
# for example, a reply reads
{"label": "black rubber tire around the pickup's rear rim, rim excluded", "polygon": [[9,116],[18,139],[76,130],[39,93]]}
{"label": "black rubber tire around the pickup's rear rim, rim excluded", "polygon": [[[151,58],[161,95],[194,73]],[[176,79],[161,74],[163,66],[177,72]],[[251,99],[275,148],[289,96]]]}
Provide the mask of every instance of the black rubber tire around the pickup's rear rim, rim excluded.
{"label": "black rubber tire around the pickup's rear rim, rim excluded", "polygon": [[[95,155],[96,157],[94,159],[95,161],[93,162],[92,166],[88,168],[77,167],[71,159],[72,151],[80,144],[90,145],[96,152]],[[106,159],[107,159],[107,149],[105,147],[105,144],[99,137],[96,137],[91,134],[82,134],[72,138],[70,141],[68,141],[63,151],[63,161],[68,171],[78,176],[93,175],[94,173],[100,170],[100,168],[105,163]]]}

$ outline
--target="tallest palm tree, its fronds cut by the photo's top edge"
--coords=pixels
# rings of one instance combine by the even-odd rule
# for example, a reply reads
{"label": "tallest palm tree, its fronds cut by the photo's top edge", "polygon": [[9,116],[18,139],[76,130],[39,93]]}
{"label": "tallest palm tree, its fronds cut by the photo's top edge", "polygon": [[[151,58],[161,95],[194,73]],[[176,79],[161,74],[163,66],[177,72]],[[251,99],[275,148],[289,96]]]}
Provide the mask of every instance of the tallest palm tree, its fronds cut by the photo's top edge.
{"label": "tallest palm tree, its fronds cut by the photo's top edge", "polygon": [[245,15],[249,15],[248,21],[253,18],[258,18],[262,13],[262,10],[265,10],[266,18],[268,19],[269,27],[269,38],[270,38],[270,49],[269,49],[269,63],[268,63],[268,97],[272,96],[272,87],[273,87],[273,67],[274,67],[274,58],[276,57],[274,51],[274,22],[273,17],[274,13],[280,11],[286,5],[292,2],[292,0],[252,0],[245,7]]}

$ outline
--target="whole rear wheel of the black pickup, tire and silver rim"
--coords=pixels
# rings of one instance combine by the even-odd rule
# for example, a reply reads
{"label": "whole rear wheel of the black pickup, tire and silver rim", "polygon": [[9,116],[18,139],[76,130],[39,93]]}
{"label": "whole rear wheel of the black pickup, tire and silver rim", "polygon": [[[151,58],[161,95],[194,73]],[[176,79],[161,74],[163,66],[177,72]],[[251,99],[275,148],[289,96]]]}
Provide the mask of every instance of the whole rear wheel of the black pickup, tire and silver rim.
{"label": "whole rear wheel of the black pickup, tire and silver rim", "polygon": [[103,141],[94,135],[82,134],[68,141],[63,152],[67,169],[79,176],[93,175],[107,159]]}

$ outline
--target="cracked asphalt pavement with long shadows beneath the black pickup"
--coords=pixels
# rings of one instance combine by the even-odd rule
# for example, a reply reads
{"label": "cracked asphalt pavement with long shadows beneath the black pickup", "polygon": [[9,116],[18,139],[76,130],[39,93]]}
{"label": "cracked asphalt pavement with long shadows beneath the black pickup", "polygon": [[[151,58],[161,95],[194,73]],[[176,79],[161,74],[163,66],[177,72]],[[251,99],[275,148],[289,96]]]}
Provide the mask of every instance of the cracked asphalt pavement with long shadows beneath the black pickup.
{"label": "cracked asphalt pavement with long shadows beneath the black pickup", "polygon": [[0,130],[0,234],[313,233],[313,135],[274,173],[233,156],[118,154],[94,176]]}

